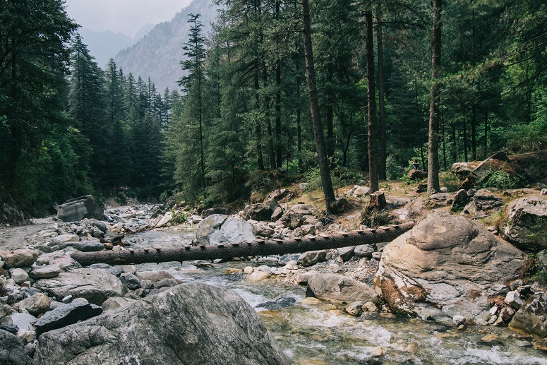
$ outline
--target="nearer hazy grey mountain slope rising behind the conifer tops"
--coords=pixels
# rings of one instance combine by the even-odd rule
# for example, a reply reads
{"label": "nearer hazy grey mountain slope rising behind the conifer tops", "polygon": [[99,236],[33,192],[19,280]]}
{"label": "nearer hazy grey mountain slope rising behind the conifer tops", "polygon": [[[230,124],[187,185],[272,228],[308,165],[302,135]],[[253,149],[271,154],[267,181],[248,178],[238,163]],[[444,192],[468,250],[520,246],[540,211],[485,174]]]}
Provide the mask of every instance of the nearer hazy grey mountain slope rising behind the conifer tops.
{"label": "nearer hazy grey mountain slope rising behind the conifer tops", "polygon": [[201,15],[203,34],[206,36],[211,30],[210,23],[217,16],[217,6],[212,0],[193,0],[172,20],[156,25],[136,44],[116,54],[116,65],[126,75],[131,72],[136,78],[150,77],[160,92],[165,88],[178,90],[177,81],[183,75],[180,64],[184,53],[182,47],[188,41],[190,13]]}

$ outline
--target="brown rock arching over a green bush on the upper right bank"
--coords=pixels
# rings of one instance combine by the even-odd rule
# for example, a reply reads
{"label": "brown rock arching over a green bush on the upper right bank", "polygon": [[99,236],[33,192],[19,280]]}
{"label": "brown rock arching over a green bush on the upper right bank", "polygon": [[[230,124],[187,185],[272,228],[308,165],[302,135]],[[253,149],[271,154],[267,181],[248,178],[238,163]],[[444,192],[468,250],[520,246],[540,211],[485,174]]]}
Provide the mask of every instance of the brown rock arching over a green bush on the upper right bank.
{"label": "brown rock arching over a green bush on the upper right bank", "polygon": [[491,172],[495,171],[503,171],[509,176],[517,176],[523,183],[531,182],[529,175],[516,164],[512,164],[504,152],[496,152],[481,162],[467,175],[467,178],[462,183],[462,189],[468,190],[474,188],[479,183],[487,184]]}

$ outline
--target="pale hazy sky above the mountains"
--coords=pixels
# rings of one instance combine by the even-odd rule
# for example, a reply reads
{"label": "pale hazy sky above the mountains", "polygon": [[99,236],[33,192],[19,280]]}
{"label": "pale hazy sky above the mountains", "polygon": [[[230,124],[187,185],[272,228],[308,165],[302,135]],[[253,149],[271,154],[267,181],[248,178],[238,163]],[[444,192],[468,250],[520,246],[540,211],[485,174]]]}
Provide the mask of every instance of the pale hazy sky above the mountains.
{"label": "pale hazy sky above the mountains", "polygon": [[83,28],[133,37],[143,25],[171,20],[191,0],[66,0],[68,16]]}

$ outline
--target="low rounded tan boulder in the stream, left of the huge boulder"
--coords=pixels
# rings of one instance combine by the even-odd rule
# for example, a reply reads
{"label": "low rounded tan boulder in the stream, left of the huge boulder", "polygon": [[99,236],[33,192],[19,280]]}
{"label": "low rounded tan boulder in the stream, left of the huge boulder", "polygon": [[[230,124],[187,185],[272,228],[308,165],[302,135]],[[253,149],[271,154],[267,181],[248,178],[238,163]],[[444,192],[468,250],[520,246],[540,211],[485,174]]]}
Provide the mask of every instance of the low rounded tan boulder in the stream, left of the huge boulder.
{"label": "low rounded tan boulder in the stream, left of the huge boulder", "polygon": [[308,292],[313,297],[337,304],[348,304],[354,301],[373,301],[377,295],[363,282],[337,274],[317,274],[308,280]]}

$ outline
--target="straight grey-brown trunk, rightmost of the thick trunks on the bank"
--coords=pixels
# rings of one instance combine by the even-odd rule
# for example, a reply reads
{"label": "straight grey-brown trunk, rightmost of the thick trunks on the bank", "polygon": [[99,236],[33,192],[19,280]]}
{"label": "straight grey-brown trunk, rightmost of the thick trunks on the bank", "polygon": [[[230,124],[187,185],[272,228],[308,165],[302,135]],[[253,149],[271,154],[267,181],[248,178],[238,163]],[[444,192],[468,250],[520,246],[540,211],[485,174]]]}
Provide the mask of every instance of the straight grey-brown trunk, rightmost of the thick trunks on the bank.
{"label": "straight grey-brown trunk, rightmost of the thick trunks on the bank", "polygon": [[433,55],[431,56],[431,105],[429,108],[429,140],[427,191],[434,194],[440,191],[439,187],[439,119],[440,119],[440,36],[441,36],[442,0],[433,0]]}

